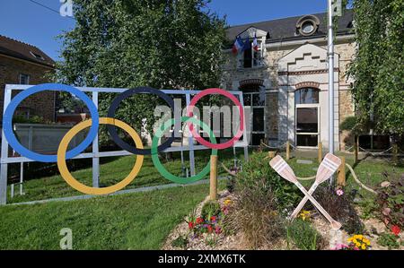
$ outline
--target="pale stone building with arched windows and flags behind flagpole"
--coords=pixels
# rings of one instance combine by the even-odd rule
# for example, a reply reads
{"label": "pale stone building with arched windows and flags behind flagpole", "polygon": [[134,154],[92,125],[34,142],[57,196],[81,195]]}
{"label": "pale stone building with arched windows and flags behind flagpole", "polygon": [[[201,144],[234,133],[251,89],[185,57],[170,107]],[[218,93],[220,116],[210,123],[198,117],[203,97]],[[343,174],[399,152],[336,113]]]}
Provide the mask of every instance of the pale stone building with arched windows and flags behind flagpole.
{"label": "pale stone building with arched windows and flags behind flagpole", "polygon": [[[250,106],[250,144],[260,140],[279,146],[289,140],[301,148],[328,147],[327,13],[233,26],[232,42],[240,36],[257,37],[258,51],[250,48],[234,55],[224,50],[222,87],[243,91]],[[338,22],[335,41],[335,148],[344,150],[339,124],[354,114],[347,66],[355,52],[353,13]]]}

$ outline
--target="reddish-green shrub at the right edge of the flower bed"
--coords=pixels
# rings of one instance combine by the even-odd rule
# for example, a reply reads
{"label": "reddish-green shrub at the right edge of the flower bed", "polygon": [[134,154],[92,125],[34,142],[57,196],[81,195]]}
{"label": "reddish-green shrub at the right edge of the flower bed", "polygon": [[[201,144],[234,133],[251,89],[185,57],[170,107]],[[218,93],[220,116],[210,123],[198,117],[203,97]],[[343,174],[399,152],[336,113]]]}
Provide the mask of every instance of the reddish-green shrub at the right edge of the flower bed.
{"label": "reddish-green shrub at the right edge of the flower bed", "polygon": [[383,176],[390,182],[390,186],[377,190],[378,214],[385,224],[397,225],[404,228],[404,174],[391,175],[387,172]]}

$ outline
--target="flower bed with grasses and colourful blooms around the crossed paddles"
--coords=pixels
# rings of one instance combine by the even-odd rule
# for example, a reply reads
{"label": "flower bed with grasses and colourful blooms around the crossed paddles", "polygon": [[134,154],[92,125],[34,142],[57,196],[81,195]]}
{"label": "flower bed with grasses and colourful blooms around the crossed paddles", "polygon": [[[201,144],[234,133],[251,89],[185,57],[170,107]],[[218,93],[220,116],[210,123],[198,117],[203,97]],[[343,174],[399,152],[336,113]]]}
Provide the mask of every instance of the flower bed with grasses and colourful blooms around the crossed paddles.
{"label": "flower bed with grasses and colourful blooms around the crossed paddles", "polygon": [[[379,205],[373,200],[371,210],[355,203],[342,187],[320,186],[314,198],[342,229],[332,230],[311,203],[290,221],[286,219],[302,197],[268,169],[262,155],[253,153],[229,188],[234,192],[220,193],[217,203],[206,198],[171,233],[163,249],[404,249],[402,222],[397,220],[401,216],[396,213],[402,208],[402,192],[397,190],[402,178],[391,185],[396,187],[383,189]],[[386,207],[391,208],[388,215],[380,212]]]}

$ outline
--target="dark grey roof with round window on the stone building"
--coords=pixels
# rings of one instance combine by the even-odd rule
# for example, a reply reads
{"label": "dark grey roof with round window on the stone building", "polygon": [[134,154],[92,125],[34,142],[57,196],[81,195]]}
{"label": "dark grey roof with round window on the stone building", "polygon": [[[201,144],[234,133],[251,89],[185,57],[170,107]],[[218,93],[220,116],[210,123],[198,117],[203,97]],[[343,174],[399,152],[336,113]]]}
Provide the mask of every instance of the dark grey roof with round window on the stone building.
{"label": "dark grey roof with round window on the stone building", "polygon": [[[244,30],[248,30],[250,27],[267,31],[269,35],[267,43],[277,42],[280,40],[310,39],[325,36],[327,34],[327,28],[328,28],[327,13],[317,13],[313,15],[319,18],[320,26],[317,32],[315,32],[310,37],[303,37],[299,34],[296,34],[296,23],[300,18],[304,16],[302,15],[267,22],[254,22],[232,26],[229,29],[227,29],[227,39],[229,41],[233,41],[234,39],[236,39],[237,35],[241,34]],[[337,34],[347,34],[352,31],[353,15],[354,13],[352,10],[347,10],[343,14],[343,16],[339,18]]]}

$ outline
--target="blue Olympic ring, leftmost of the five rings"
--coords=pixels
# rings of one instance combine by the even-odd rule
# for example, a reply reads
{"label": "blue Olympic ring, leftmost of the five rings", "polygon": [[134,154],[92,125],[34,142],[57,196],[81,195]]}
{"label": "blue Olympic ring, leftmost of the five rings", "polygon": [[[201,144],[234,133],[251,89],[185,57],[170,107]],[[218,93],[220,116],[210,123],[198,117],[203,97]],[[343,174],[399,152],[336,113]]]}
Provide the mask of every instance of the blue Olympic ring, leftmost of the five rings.
{"label": "blue Olympic ring, leftmost of the five rings", "polygon": [[71,94],[74,94],[75,97],[82,99],[84,103],[90,110],[90,114],[92,116],[92,126],[90,128],[87,137],[80,143],[75,149],[71,151],[67,151],[66,159],[72,159],[75,156],[79,155],[82,151],[84,151],[95,139],[98,134],[98,127],[99,127],[99,114],[97,107],[92,102],[85,93],[82,91],[77,90],[74,87],[59,84],[59,83],[44,83],[37,86],[33,86],[26,91],[22,91],[18,95],[16,95],[8,107],[4,112],[4,119],[3,119],[3,130],[5,138],[7,139],[10,146],[15,150],[18,151],[22,156],[29,158],[31,160],[36,160],[40,162],[57,162],[57,155],[44,155],[37,152],[33,152],[22,146],[20,142],[18,142],[17,138],[13,133],[13,114],[17,106],[22,102],[23,99],[26,99],[31,94],[38,93],[40,91],[67,91]]}

